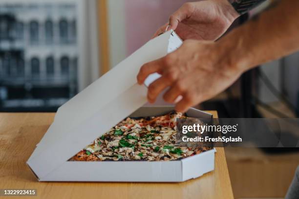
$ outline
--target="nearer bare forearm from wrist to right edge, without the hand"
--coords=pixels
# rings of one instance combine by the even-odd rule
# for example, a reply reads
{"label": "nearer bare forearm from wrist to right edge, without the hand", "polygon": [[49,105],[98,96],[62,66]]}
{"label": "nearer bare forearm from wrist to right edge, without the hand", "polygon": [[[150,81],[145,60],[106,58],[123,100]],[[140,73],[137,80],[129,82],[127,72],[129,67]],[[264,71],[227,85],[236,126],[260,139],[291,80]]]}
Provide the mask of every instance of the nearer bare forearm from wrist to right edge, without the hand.
{"label": "nearer bare forearm from wrist to right edge, without the hand", "polygon": [[299,50],[299,1],[276,6],[217,41],[224,60],[241,72]]}

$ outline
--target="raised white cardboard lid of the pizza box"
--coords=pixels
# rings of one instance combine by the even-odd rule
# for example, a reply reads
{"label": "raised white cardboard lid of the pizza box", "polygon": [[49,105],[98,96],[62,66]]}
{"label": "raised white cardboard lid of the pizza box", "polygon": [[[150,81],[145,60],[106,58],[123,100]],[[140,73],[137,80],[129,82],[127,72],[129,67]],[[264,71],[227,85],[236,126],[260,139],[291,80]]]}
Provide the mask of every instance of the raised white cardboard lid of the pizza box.
{"label": "raised white cardboard lid of the pizza box", "polygon": [[[152,74],[145,81],[145,85],[138,85],[136,76],[140,67],[144,63],[164,57],[181,44],[182,41],[172,30],[149,40],[127,59],[62,105],[55,115],[54,122],[27,161],[38,179],[55,181],[60,179],[49,178],[55,172],[56,175],[63,172],[64,176],[67,176],[67,172],[75,172],[67,169],[70,166],[65,164],[68,159],[146,104],[147,86],[159,78],[159,75]],[[90,162],[85,164],[90,165]],[[126,165],[129,164],[131,163]],[[145,162],[139,161],[139,164]],[[148,162],[145,165],[150,164],[152,163]],[[67,177],[61,178],[65,181],[72,180]]]}

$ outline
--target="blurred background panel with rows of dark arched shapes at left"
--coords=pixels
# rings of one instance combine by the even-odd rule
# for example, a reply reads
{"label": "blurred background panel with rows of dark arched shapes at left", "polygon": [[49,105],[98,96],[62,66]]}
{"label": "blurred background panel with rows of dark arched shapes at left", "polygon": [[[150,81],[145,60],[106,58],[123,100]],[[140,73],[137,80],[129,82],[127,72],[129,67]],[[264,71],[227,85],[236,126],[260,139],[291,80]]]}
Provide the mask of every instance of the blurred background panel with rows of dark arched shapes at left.
{"label": "blurred background panel with rows of dark arched shapes at left", "polygon": [[0,111],[56,111],[78,93],[82,5],[0,0]]}

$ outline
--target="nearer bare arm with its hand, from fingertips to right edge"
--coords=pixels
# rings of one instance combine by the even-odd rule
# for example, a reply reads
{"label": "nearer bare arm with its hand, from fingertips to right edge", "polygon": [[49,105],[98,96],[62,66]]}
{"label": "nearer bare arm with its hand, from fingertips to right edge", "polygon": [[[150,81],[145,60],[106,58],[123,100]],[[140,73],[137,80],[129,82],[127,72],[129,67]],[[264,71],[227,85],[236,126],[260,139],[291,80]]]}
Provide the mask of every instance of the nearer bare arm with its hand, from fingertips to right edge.
{"label": "nearer bare arm with its hand, from fingertips to right edge", "polygon": [[298,0],[281,0],[216,42],[186,40],[166,57],[143,65],[137,80],[142,84],[149,74],[160,73],[149,85],[149,102],[169,86],[164,100],[176,102],[182,96],[176,110],[186,111],[229,87],[246,70],[298,51],[298,10]]}

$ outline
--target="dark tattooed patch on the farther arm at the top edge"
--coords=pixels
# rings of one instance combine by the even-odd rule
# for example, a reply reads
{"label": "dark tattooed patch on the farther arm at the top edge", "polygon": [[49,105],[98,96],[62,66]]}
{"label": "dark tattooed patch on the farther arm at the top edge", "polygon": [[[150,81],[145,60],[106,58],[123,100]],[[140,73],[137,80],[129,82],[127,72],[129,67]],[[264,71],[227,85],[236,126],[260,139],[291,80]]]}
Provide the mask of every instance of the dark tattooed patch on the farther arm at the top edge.
{"label": "dark tattooed patch on the farther arm at the top edge", "polygon": [[265,0],[228,0],[235,10],[240,14],[244,14],[249,10],[255,8],[260,3],[264,2]]}

